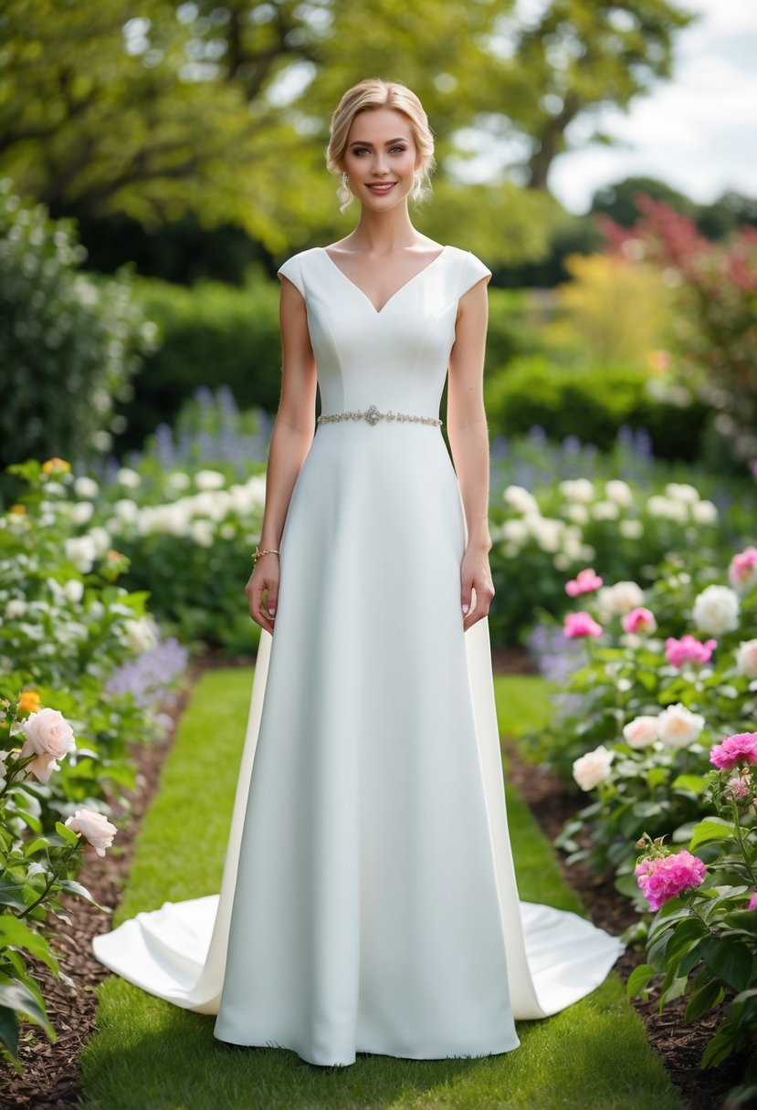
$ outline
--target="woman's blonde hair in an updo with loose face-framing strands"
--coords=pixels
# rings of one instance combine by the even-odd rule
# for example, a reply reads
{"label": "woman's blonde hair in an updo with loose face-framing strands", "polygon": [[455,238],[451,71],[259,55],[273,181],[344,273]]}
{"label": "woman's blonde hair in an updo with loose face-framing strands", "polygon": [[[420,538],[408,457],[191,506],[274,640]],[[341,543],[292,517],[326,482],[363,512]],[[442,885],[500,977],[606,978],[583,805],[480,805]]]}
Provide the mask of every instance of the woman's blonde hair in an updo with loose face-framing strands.
{"label": "woman's blonde hair in an updo with loose face-framing strands", "polygon": [[[331,118],[331,135],[326,148],[326,165],[332,173],[344,172],[344,154],[347,149],[350,128],[361,112],[373,112],[378,108],[393,108],[407,117],[415,149],[421,157],[421,168],[415,171],[415,184],[411,193],[415,202],[431,196],[430,178],[434,170],[434,137],[428,127],[428,117],[423,104],[407,85],[401,81],[385,81],[383,78],[369,78],[360,84],[347,89]],[[336,191],[341,201],[340,211],[344,212],[352,202],[349,186],[341,184]]]}

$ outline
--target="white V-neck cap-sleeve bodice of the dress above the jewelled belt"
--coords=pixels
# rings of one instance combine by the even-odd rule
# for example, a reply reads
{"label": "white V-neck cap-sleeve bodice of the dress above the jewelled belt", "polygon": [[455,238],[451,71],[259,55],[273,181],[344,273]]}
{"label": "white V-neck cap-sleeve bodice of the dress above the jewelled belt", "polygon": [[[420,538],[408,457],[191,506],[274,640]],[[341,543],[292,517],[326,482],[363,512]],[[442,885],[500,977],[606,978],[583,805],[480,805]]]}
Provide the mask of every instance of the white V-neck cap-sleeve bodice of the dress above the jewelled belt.
{"label": "white V-neck cap-sleeve bodice of the dress above the jewelled belt", "polygon": [[381,311],[320,246],[279,270],[302,293],[322,412],[380,410],[435,416],[455,341],[461,296],[491,271],[445,246]]}

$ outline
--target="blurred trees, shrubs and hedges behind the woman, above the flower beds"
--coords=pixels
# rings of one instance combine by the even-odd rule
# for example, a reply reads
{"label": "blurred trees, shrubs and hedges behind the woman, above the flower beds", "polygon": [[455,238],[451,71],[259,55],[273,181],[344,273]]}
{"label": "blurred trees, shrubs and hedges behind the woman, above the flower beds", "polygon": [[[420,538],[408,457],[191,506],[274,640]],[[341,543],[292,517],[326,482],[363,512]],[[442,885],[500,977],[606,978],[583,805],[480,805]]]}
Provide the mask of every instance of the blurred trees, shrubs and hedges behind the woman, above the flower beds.
{"label": "blurred trees, shrubs and hedges behind the woman, above the flower beds", "polygon": [[[743,467],[757,201],[635,178],[577,216],[549,192],[565,151],[610,141],[598,109],[670,75],[690,20],[673,0],[7,0],[0,463],[123,456],[201,386],[275,411],[275,269],[352,226],[323,151],[343,90],[378,73],[436,133],[418,228],[494,271],[493,437],[604,447],[628,425]],[[645,196],[706,263],[666,255]]]}

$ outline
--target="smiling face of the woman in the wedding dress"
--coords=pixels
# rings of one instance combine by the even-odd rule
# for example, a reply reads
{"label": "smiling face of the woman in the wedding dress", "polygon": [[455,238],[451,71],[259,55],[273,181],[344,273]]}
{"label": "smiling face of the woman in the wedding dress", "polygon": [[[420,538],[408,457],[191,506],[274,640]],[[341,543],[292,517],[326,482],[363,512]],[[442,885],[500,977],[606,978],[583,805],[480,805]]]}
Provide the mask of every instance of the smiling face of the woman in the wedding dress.
{"label": "smiling face of the woman in the wedding dress", "polygon": [[381,211],[408,195],[420,159],[410,120],[394,108],[360,112],[350,128],[344,169],[361,204]]}

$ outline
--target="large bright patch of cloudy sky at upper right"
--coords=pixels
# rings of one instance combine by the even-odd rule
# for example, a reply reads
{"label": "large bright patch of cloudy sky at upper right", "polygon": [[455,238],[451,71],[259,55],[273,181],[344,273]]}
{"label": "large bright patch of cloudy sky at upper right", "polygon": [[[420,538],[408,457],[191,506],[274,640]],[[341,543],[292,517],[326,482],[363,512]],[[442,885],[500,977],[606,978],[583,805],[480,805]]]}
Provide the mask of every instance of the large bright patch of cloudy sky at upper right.
{"label": "large bright patch of cloudy sky at upper right", "polygon": [[707,203],[733,189],[757,196],[757,0],[684,0],[700,18],[677,36],[672,81],[603,112],[619,140],[563,154],[549,186],[573,212],[624,178],[658,178]]}

